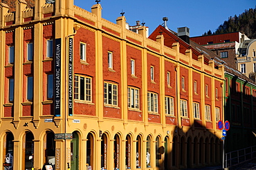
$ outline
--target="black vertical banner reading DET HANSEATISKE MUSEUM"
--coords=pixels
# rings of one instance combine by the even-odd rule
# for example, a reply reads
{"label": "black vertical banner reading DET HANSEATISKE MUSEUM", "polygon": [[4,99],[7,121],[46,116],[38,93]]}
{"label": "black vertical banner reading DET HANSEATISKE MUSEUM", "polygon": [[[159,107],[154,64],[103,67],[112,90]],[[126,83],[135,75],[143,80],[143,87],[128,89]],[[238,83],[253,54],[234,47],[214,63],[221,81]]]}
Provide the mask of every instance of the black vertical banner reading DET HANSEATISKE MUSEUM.
{"label": "black vertical banner reading DET HANSEATISKE MUSEUM", "polygon": [[68,40],[68,115],[73,115],[73,39]]}

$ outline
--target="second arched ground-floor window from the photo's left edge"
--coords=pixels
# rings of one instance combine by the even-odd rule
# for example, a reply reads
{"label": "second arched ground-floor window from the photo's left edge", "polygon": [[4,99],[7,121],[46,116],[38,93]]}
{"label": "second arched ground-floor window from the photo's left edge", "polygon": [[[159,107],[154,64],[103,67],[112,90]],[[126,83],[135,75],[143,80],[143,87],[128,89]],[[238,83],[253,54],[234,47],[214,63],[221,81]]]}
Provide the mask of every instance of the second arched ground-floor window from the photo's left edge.
{"label": "second arched ground-floor window from the photo's left edge", "polygon": [[24,169],[33,168],[33,155],[34,155],[34,136],[31,132],[26,132],[25,134],[25,149],[24,149]]}

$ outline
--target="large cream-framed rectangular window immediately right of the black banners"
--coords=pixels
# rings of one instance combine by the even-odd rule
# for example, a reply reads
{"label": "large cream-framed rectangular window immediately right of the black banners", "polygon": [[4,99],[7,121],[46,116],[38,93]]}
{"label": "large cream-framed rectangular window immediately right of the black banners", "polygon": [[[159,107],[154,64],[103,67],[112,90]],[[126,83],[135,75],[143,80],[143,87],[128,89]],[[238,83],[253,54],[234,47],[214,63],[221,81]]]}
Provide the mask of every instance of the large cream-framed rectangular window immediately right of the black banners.
{"label": "large cream-framed rectangular window immediately right of the black banners", "polygon": [[91,102],[91,78],[75,75],[74,98]]}

